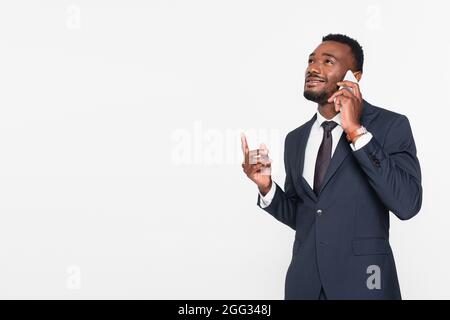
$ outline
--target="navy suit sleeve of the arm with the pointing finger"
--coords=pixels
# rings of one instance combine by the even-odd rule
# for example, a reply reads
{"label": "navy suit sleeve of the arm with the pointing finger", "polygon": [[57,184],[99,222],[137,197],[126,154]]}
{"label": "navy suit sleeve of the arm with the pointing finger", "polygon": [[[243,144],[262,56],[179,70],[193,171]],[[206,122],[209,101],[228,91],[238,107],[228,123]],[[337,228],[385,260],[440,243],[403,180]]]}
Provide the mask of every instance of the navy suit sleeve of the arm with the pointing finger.
{"label": "navy suit sleeve of the arm with the pointing finger", "polygon": [[[286,180],[284,183],[284,191],[280,188],[278,184],[276,184],[276,190],[275,195],[270,202],[270,205],[262,208],[263,210],[267,211],[269,214],[271,214],[275,219],[278,221],[284,223],[285,225],[291,227],[295,230],[296,226],[296,212],[297,212],[297,206],[300,202],[300,198],[297,195],[297,192],[295,191],[293,181],[292,181],[292,174],[291,169],[289,166],[289,159],[288,159],[288,137],[286,137],[285,140],[285,147],[284,147],[284,167],[286,170]],[[275,183],[272,181],[272,183]],[[261,196],[258,194],[258,206],[261,207],[260,204]]]}

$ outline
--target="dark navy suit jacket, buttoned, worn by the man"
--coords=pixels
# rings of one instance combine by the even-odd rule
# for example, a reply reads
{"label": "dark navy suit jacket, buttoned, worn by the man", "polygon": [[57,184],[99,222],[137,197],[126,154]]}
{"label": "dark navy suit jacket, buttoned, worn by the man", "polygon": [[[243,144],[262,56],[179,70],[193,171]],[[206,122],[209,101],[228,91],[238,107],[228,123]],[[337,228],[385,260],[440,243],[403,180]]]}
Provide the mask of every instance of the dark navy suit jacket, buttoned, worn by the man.
{"label": "dark navy suit jacket, buttoned, worn by the man", "polygon": [[286,136],[284,191],[277,185],[264,209],[295,230],[285,299],[317,299],[321,287],[328,299],[401,299],[389,211],[407,220],[422,205],[409,121],[364,101],[360,121],[373,137],[353,151],[342,134],[318,196],[302,174],[314,121]]}

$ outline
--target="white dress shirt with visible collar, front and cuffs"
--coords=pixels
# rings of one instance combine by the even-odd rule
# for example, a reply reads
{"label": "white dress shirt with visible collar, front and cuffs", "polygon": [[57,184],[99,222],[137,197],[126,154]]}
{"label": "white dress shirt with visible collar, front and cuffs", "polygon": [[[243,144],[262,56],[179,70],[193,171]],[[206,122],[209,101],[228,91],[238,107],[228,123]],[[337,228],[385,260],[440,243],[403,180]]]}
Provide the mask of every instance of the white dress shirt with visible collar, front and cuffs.
{"label": "white dress shirt with visible collar, front and cuffs", "polygon": [[[332,139],[332,146],[331,146],[331,157],[333,157],[334,150],[336,150],[336,146],[339,142],[339,139],[341,138],[342,132],[344,130],[341,126],[341,113],[339,112],[336,116],[334,116],[333,119],[326,119],[324,116],[320,114],[320,112],[317,110],[317,119],[314,121],[313,126],[311,127],[311,132],[308,137],[308,141],[306,143],[306,149],[305,149],[305,161],[303,165],[303,177],[308,182],[311,189],[314,186],[314,171],[316,168],[316,158],[317,153],[319,152],[320,144],[322,143],[323,139],[323,127],[322,122],[324,121],[334,121],[338,125],[331,131],[331,135],[333,137]],[[350,143],[350,147],[353,151],[356,151],[358,149],[361,149],[364,147],[369,141],[372,139],[372,134],[370,132],[362,135],[355,141],[355,145],[353,143]],[[272,202],[273,197],[275,196],[276,186],[275,183],[272,181],[272,186],[270,188],[270,191],[263,196],[261,196],[261,202],[260,205],[262,208],[265,208],[270,205]]]}

